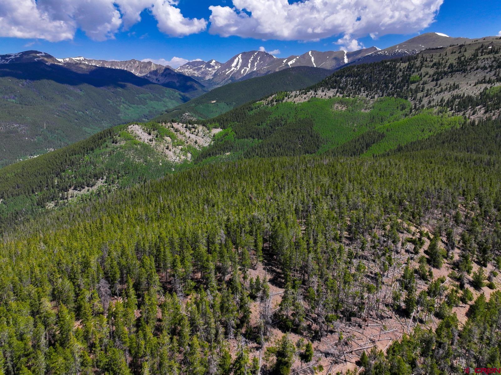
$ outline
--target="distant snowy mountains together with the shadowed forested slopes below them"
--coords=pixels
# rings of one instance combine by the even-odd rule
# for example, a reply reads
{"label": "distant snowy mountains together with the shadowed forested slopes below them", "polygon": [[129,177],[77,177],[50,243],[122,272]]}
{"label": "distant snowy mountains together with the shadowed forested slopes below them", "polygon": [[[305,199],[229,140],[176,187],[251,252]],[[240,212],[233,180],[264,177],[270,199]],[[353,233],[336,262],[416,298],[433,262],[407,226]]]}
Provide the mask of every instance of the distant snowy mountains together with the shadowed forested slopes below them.
{"label": "distant snowy mountains together with the shadowed forested slopes below them", "polygon": [[[288,58],[250,51],[225,63],[193,61],[178,69],[135,59],[57,59],[39,51],[1,55],[0,134],[9,142],[0,147],[0,165],[62,147],[126,121],[151,119],[166,111],[162,118],[208,118],[275,91],[315,84],[346,65],[411,56],[468,41],[428,33],[384,50],[309,51]],[[252,81],[229,91],[202,95],[226,84],[278,72],[285,73],[271,78],[272,85],[266,80]],[[37,94],[42,91],[44,95]],[[87,95],[78,94],[83,92]],[[100,97],[108,101],[99,101]],[[197,97],[196,102],[182,105]],[[174,112],[170,111],[174,107]]]}

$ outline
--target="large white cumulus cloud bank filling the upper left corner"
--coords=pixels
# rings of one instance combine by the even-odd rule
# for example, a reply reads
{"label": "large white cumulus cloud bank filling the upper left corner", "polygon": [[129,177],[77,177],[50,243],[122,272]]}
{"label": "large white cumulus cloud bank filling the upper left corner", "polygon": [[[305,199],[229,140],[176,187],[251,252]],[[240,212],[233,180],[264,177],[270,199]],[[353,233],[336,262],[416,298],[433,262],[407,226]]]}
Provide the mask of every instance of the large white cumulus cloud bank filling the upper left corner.
{"label": "large white cumulus cloud bank filling the upper left corner", "polygon": [[148,10],[158,29],[171,37],[199,33],[203,19],[185,18],[176,0],[0,0],[0,37],[72,40],[77,29],[95,41],[141,20]]}

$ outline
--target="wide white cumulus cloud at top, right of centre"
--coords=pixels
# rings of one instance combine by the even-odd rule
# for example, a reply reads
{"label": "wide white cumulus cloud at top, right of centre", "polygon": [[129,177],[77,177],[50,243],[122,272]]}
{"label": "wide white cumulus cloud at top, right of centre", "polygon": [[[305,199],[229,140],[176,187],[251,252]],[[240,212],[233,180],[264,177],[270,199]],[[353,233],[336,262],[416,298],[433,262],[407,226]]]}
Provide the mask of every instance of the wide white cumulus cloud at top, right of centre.
{"label": "wide white cumulus cloud at top, right of centre", "polygon": [[[410,34],[429,26],[443,0],[232,0],[211,6],[209,32],[223,37],[313,41],[336,35]],[[352,43],[350,41],[350,43]]]}

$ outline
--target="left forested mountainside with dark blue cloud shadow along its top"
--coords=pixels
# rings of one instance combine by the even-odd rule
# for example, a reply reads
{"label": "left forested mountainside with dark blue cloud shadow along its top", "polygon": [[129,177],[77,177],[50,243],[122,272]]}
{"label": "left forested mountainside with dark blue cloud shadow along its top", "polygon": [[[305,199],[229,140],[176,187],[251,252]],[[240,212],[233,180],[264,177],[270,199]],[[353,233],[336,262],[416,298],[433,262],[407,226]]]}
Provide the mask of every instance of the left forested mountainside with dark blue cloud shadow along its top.
{"label": "left forested mountainside with dark blue cloud shadow along its top", "polygon": [[189,99],[189,94],[118,69],[2,64],[0,167],[113,125],[151,119]]}

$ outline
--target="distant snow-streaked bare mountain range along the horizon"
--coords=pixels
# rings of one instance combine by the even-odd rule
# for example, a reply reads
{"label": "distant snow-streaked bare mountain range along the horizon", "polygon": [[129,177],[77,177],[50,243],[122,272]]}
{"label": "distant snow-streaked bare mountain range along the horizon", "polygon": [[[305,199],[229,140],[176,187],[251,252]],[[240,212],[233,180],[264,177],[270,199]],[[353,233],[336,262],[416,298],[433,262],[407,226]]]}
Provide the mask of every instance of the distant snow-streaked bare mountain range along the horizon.
{"label": "distant snow-streaked bare mountain range along the horizon", "polygon": [[203,92],[203,86],[208,88],[219,87],[231,82],[265,76],[293,67],[336,70],[347,64],[409,56],[425,49],[448,47],[468,41],[467,38],[450,38],[442,33],[426,33],[384,50],[370,47],[358,51],[308,51],[302,55],[292,55],[287,58],[277,58],[264,51],[247,51],[233,56],[225,63],[216,60],[207,62],[191,61],[177,69],[135,59],[106,61],[87,59],[81,56],[56,59],[47,53],[39,51],[0,55],[0,64],[40,61],[46,64],[63,65],[70,69],[84,66],[122,69],[150,82],[181,92]]}

